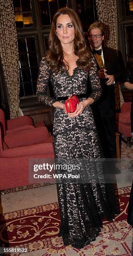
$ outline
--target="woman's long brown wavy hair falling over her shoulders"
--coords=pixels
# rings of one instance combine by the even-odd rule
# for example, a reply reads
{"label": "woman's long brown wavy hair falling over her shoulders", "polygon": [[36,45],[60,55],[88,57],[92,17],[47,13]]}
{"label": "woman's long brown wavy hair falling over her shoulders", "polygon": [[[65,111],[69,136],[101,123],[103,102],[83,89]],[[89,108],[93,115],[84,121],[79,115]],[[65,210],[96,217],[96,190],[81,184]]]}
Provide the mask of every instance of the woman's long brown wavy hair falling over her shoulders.
{"label": "woman's long brown wavy hair falling over her shoulders", "polygon": [[74,54],[79,57],[76,63],[80,68],[88,69],[90,67],[89,59],[91,58],[91,54],[89,54],[89,52],[86,49],[86,41],[84,38],[81,22],[76,12],[73,9],[67,7],[59,9],[57,13],[54,15],[48,40],[49,51],[47,52],[47,63],[55,73],[59,72],[59,69],[62,67],[64,69],[66,69],[66,66],[69,67],[69,64],[66,65],[63,61],[63,49],[56,33],[57,18],[61,14],[69,15],[71,23],[74,26]]}

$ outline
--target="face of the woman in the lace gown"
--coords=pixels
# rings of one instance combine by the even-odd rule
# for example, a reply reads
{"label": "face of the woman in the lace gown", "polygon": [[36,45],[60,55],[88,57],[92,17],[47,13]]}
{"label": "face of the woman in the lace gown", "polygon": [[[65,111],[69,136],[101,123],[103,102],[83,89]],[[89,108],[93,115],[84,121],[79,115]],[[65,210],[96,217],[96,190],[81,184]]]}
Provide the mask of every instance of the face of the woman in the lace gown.
{"label": "face of the woman in the lace gown", "polygon": [[56,23],[56,32],[62,46],[74,42],[75,30],[69,15],[59,15]]}

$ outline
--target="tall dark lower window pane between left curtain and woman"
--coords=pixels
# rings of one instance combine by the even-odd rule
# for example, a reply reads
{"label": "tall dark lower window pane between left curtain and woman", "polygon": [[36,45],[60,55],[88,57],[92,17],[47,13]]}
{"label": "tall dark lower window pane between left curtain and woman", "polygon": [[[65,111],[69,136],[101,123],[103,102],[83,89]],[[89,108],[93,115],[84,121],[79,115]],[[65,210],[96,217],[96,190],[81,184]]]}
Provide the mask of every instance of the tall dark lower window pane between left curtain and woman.
{"label": "tall dark lower window pane between left curtain and woman", "polygon": [[20,57],[20,95],[35,95],[38,76],[39,54],[36,36],[18,38]]}

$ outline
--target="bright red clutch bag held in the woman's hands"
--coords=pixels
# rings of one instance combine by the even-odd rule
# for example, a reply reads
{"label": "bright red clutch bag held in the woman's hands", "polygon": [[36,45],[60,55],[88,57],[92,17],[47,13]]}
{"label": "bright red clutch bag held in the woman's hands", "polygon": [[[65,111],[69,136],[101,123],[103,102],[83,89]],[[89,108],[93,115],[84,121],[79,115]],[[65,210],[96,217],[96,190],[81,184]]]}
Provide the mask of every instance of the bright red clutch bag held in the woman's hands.
{"label": "bright red clutch bag held in the woman's hands", "polygon": [[67,113],[73,113],[76,110],[76,106],[79,103],[78,97],[74,94],[73,96],[69,96],[65,101],[65,107]]}

